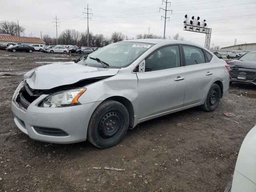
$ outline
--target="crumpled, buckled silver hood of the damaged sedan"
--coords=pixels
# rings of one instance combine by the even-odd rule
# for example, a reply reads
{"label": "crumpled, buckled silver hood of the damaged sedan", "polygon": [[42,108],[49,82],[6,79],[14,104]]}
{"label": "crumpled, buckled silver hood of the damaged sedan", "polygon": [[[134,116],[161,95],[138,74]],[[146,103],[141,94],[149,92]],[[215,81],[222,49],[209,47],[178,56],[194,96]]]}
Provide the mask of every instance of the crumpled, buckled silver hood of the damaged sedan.
{"label": "crumpled, buckled silver hood of the damaged sedan", "polygon": [[75,62],[60,62],[32,69],[24,78],[32,89],[51,89],[74,84],[80,80],[104,76],[114,76],[119,69],[96,68]]}

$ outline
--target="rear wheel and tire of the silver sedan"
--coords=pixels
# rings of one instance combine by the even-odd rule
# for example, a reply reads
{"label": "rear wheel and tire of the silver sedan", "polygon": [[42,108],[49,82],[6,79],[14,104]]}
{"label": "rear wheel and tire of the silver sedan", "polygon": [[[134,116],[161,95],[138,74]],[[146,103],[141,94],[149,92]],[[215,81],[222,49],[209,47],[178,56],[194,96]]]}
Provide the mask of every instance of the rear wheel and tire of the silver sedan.
{"label": "rear wheel and tire of the silver sedan", "polygon": [[219,105],[220,95],[221,95],[220,86],[218,86],[215,83],[212,84],[204,104],[202,104],[200,107],[206,111],[214,111]]}

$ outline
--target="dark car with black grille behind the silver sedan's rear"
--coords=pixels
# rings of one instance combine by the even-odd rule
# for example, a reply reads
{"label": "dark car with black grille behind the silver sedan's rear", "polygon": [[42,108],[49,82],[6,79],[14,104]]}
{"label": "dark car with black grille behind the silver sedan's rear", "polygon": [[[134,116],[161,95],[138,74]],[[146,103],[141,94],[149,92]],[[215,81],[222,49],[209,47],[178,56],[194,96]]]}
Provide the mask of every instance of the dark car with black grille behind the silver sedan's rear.
{"label": "dark car with black grille behind the silver sedan's rear", "polygon": [[248,52],[228,64],[230,65],[230,82],[256,85],[256,51]]}

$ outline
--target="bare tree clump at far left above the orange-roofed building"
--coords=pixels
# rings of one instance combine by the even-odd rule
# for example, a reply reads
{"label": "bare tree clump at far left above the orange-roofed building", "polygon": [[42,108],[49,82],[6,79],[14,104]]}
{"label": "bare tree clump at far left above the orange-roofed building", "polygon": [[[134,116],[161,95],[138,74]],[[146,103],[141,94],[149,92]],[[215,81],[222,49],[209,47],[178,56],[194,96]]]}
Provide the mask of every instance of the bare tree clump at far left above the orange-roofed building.
{"label": "bare tree clump at far left above the orange-roofed building", "polygon": [[10,35],[18,35],[18,31],[20,31],[20,34],[25,32],[25,28],[22,26],[18,26],[16,22],[8,22],[8,21],[2,21],[0,22],[0,32],[2,33],[8,33]]}

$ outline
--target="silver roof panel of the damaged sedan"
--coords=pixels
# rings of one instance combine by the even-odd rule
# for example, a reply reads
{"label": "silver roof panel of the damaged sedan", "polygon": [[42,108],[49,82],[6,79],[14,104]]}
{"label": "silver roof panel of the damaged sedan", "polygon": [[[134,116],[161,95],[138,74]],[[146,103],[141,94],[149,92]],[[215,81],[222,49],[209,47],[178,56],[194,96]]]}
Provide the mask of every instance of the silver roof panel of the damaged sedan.
{"label": "silver roof panel of the damaged sedan", "polygon": [[124,40],[122,42],[139,42],[139,43],[152,43],[158,44],[162,42],[166,42],[169,44],[189,44],[203,48],[201,45],[190,42],[190,41],[181,41],[181,40],[173,40],[173,39],[131,39],[131,40]]}

